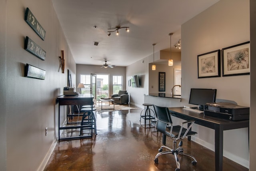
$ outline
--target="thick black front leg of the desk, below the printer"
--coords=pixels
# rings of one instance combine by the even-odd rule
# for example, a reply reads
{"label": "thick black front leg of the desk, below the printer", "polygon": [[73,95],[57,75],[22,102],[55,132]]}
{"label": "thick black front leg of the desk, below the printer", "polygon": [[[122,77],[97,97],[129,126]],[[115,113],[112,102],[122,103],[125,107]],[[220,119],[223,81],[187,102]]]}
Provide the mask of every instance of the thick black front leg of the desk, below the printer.
{"label": "thick black front leg of the desk, below the printer", "polygon": [[223,166],[223,129],[215,126],[215,171],[222,171]]}

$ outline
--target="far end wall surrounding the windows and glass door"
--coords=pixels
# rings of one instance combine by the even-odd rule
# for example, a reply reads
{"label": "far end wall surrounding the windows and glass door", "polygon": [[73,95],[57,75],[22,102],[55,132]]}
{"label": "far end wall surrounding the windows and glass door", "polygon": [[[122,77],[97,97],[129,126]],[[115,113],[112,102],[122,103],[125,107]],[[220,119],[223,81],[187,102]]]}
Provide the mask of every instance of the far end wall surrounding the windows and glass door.
{"label": "far end wall surrounding the windows and glass door", "polygon": [[[113,76],[122,76],[123,77],[123,90],[126,90],[128,86],[128,81],[126,82],[126,67],[116,66],[114,68],[101,68],[102,66],[94,65],[82,65],[76,64],[76,85],[80,83],[80,76],[83,74],[108,74],[109,75],[109,94],[113,94]],[[127,84],[126,84],[127,83]],[[129,92],[128,92],[129,93]]]}

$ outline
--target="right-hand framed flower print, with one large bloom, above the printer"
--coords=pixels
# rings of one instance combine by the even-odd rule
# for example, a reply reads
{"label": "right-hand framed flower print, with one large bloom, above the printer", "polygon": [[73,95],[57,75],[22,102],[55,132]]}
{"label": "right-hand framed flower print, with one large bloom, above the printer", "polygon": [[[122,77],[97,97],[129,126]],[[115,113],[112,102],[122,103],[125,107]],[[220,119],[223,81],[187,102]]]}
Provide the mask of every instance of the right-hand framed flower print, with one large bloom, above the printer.
{"label": "right-hand framed flower print, with one large bloom, above the printer", "polygon": [[222,49],[222,76],[250,74],[250,42]]}

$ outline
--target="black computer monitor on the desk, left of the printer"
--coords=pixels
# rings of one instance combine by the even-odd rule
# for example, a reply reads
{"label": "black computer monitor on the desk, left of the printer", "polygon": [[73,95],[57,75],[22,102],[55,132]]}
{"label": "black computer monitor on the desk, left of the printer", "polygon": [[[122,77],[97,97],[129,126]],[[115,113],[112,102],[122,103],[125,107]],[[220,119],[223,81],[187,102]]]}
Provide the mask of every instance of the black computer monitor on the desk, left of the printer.
{"label": "black computer monitor on the desk, left of the printer", "polygon": [[200,110],[204,110],[204,104],[216,101],[217,89],[191,88],[189,104],[198,105]]}

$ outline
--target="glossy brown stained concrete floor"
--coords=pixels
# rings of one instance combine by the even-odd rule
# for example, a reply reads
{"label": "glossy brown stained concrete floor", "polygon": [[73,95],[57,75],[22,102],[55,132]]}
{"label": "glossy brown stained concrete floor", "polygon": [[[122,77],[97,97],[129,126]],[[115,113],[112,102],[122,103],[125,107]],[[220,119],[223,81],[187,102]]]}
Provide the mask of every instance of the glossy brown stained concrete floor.
{"label": "glossy brown stained concrete floor", "polygon": [[[141,110],[96,112],[98,135],[81,140],[60,141],[44,170],[174,171],[174,155],[162,155],[158,158],[158,164],[154,163],[154,157],[162,145],[162,134],[155,128],[140,125]],[[73,130],[72,134],[79,132],[80,130]],[[167,138],[166,145],[172,147],[170,138]],[[181,171],[215,170],[213,151],[187,139],[184,139],[182,147],[184,153],[193,155],[198,163],[193,166],[192,159],[179,156]],[[223,171],[248,169],[224,157]]]}

